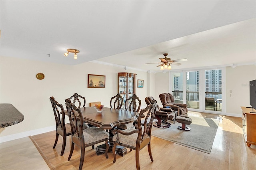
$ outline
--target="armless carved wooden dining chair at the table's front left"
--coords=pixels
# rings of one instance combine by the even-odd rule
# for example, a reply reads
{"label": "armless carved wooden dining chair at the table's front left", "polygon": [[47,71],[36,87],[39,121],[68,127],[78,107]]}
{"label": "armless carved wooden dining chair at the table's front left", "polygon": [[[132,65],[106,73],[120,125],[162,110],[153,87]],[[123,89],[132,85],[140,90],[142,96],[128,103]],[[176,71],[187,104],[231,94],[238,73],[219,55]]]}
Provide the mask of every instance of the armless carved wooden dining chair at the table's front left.
{"label": "armless carved wooden dining chair at the table's front left", "polygon": [[81,170],[84,163],[85,148],[88,146],[93,146],[94,144],[98,144],[100,142],[104,142],[104,141],[106,143],[105,156],[106,158],[108,158],[109,133],[98,127],[89,127],[83,130],[82,126],[78,124],[78,120],[84,119],[81,109],[77,108],[74,104],[72,104],[70,99],[66,99],[65,101],[66,101],[66,108],[68,111],[68,118],[70,121],[71,136],[72,136],[72,143],[71,143],[68,160],[70,160],[72,153],[74,151],[74,145],[76,144],[76,146],[80,147],[80,150],[81,150],[80,165],[79,165],[79,170]]}

